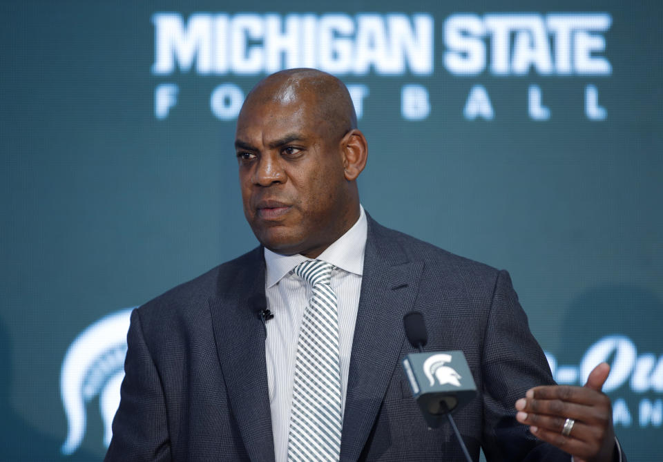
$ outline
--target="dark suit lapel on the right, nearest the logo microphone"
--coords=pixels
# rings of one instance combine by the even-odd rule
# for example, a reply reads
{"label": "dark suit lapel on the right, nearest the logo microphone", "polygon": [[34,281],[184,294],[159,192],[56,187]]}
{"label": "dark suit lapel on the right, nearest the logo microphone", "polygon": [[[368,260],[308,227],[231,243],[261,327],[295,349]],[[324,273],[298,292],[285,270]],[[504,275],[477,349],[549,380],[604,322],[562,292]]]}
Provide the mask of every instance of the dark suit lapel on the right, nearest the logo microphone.
{"label": "dark suit lapel on the right, nearest the logo microphone", "polygon": [[366,443],[405,340],[423,262],[407,261],[369,218],[361,296],[348,377],[340,459],[357,460]]}

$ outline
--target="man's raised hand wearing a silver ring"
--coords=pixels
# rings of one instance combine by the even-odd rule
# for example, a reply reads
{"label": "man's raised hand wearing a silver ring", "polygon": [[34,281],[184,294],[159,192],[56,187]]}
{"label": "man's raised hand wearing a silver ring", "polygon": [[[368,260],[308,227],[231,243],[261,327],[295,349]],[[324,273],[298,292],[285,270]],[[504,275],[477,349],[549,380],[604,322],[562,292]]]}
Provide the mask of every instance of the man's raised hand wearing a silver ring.
{"label": "man's raised hand wearing a silver ring", "polygon": [[[601,392],[610,366],[594,368],[584,387],[550,385],[529,389],[516,401],[516,418],[537,438],[573,455],[575,462],[612,461],[615,430],[610,399]],[[575,421],[564,436],[566,420]],[[568,425],[567,425],[568,431]]]}

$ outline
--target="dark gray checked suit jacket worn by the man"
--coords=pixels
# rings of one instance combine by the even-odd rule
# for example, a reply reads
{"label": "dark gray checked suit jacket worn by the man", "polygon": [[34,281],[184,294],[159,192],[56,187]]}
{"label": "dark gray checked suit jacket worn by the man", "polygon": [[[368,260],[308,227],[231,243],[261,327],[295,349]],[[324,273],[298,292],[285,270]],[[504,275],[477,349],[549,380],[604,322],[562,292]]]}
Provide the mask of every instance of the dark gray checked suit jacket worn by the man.
{"label": "dark gray checked suit jacket worn by the man", "polygon": [[[107,461],[273,461],[261,298],[258,247],[133,312]],[[456,421],[474,460],[480,445],[488,460],[570,460],[515,420],[517,398],[553,379],[508,273],[369,218],[343,461],[463,460],[448,425],[427,429],[401,370],[412,310],[427,351],[468,359],[479,394]]]}

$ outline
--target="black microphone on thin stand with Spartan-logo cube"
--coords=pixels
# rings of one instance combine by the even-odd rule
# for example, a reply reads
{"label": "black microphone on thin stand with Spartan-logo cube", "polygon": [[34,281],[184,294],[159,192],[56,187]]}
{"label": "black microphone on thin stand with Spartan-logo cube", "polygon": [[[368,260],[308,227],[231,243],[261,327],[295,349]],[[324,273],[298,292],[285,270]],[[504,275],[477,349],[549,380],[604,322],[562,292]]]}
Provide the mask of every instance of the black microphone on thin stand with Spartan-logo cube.
{"label": "black microphone on thin stand with Spartan-logo cube", "polygon": [[431,428],[439,427],[443,416],[448,421],[461,445],[465,459],[472,462],[468,448],[461,438],[451,413],[459,410],[477,394],[472,372],[461,351],[424,353],[428,341],[423,315],[412,311],[403,316],[405,335],[419,353],[403,359],[403,369],[410,381],[412,396],[419,404],[423,418]]}

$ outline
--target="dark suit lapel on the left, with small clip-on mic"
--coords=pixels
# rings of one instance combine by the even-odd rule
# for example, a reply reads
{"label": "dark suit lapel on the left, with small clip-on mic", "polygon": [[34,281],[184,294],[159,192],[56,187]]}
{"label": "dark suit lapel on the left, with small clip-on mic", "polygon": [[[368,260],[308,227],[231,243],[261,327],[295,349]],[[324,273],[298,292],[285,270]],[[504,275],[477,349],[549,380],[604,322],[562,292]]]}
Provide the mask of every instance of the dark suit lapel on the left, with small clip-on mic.
{"label": "dark suit lapel on the left, with small clip-on mic", "polygon": [[273,461],[274,446],[265,362],[265,261],[262,247],[235,274],[221,275],[209,299],[216,347],[231,410],[252,461]]}

